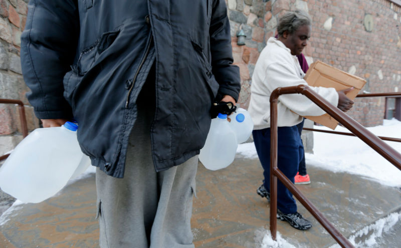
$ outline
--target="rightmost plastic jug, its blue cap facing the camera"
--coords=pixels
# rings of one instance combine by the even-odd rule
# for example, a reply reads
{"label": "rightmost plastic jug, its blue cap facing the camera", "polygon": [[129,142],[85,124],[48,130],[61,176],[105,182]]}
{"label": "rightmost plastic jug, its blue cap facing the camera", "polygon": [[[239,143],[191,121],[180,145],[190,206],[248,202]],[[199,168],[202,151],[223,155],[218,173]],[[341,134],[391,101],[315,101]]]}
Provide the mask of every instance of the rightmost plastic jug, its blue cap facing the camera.
{"label": "rightmost plastic jug, its blue cap facing the camera", "polygon": [[249,139],[254,128],[251,115],[243,108],[238,108],[232,115],[230,127],[237,135],[237,142],[241,144]]}

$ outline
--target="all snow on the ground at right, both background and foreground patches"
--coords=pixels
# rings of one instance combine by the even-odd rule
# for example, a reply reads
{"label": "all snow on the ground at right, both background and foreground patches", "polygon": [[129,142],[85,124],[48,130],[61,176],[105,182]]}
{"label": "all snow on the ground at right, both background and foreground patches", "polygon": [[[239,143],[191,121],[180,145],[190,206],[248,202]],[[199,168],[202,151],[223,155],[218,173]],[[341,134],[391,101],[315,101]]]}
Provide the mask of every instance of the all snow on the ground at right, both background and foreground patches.
{"label": "all snow on the ground at right, both background and foreground patches", "polygon": [[[314,126],[314,129],[331,130],[323,126]],[[395,119],[384,120],[383,125],[367,129],[376,136],[401,138],[401,122]],[[337,126],[335,131],[349,132],[348,129],[341,126]],[[385,142],[401,153],[401,143]],[[307,166],[321,167],[333,172],[357,174],[387,186],[401,186],[401,171],[357,137],[313,132],[313,143],[314,154],[305,154]],[[237,154],[245,158],[258,158],[254,143],[240,144]],[[382,233],[388,232],[397,221],[401,221],[401,213],[392,213],[358,231],[351,236],[350,241],[355,247],[374,247],[376,239]],[[363,239],[364,242],[355,242],[361,236],[366,237]],[[270,231],[267,231],[261,248],[276,247],[295,246],[287,243],[279,234],[277,241],[273,241]],[[333,245],[330,248],[335,247],[340,246]]]}

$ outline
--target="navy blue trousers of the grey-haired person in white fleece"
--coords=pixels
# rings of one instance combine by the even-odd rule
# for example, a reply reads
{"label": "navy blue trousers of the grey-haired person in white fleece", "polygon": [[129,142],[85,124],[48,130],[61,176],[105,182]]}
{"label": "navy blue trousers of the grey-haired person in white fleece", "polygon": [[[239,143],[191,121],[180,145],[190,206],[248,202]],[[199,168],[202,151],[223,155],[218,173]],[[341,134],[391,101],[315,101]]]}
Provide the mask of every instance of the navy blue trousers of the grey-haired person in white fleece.
{"label": "navy blue trousers of the grey-haired person in white fleece", "polygon": [[[264,169],[264,186],[270,192],[270,128],[252,132],[256,151]],[[277,128],[277,165],[278,168],[294,183],[298,165],[304,157],[304,147],[297,126]],[[285,214],[297,211],[292,193],[281,183],[277,182],[277,208]]]}

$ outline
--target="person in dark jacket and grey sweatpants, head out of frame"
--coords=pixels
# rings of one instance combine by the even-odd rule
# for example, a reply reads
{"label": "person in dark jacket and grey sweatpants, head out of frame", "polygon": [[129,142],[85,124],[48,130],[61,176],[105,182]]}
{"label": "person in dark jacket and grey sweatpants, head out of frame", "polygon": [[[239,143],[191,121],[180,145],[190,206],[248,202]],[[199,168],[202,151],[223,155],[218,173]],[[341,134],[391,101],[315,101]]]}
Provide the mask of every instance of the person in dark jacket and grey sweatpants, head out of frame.
{"label": "person in dark jacket and grey sweatpants, head out of frame", "polygon": [[21,39],[37,117],[98,167],[101,247],[193,247],[211,105],[240,91],[225,1],[31,0]]}

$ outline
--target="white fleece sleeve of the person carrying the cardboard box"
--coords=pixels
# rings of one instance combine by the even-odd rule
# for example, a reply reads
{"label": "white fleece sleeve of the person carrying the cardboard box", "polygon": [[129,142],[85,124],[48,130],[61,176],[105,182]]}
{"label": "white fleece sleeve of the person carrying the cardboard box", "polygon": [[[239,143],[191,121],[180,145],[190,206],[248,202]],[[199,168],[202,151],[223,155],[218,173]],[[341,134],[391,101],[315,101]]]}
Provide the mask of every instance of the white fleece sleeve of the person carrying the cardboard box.
{"label": "white fleece sleeve of the person carrying the cardboard box", "polygon": [[[265,85],[272,92],[278,87],[297,86],[308,83],[299,78],[293,65],[288,63],[272,63],[266,69]],[[329,101],[338,104],[338,93],[334,88],[311,87],[316,93]],[[285,94],[279,96],[279,101],[288,109],[301,116],[319,116],[326,112],[302,94]]]}

